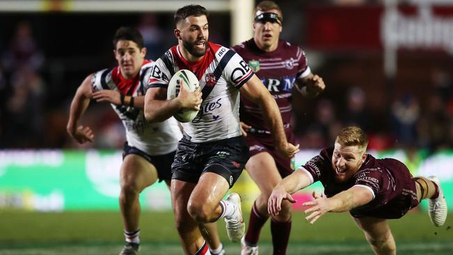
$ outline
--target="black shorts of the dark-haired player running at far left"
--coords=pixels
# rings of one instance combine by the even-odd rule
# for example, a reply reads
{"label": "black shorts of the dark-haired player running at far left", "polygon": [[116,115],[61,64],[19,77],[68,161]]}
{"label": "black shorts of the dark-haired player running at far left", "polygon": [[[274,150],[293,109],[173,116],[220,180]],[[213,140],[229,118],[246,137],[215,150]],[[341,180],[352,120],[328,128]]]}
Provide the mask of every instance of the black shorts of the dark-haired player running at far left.
{"label": "black shorts of the dark-haired player running at far left", "polygon": [[176,151],[164,155],[151,156],[145,153],[143,150],[139,150],[133,146],[129,146],[128,142],[124,143],[123,148],[123,160],[126,155],[135,154],[148,160],[155,169],[158,170],[159,183],[162,180],[171,180],[171,163],[173,163]]}

